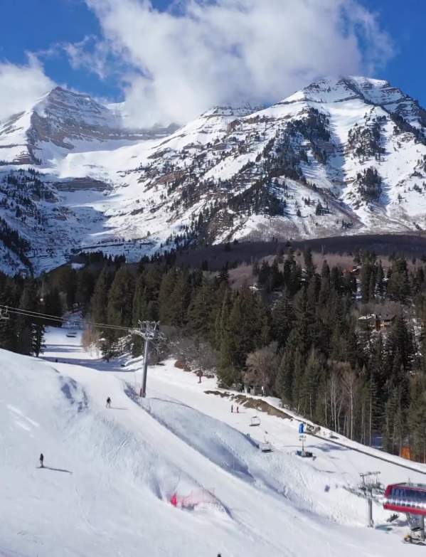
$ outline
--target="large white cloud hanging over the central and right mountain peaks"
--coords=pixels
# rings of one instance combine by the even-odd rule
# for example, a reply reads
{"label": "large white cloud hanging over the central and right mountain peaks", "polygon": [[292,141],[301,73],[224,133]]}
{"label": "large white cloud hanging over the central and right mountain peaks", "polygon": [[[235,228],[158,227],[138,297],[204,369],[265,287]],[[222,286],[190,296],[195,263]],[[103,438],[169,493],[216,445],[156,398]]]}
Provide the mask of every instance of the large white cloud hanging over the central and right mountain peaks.
{"label": "large white cloud hanging over the central and right mountain peaks", "polygon": [[162,12],[150,0],[86,1],[131,68],[124,90],[139,124],[279,100],[319,76],[371,74],[392,54],[358,0],[179,0]]}

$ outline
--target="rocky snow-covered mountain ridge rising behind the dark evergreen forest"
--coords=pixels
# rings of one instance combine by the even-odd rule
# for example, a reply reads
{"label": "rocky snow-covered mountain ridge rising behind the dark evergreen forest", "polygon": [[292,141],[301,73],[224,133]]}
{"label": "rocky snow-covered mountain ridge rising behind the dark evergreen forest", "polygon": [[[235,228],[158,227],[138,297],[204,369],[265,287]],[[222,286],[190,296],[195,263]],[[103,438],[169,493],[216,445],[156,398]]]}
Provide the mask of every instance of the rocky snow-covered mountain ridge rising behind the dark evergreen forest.
{"label": "rocky snow-covered mountain ridge rising behind the dark evergreen forest", "polygon": [[23,240],[6,234],[4,270],[80,249],[135,260],[186,243],[426,228],[426,111],[387,81],[318,80],[176,130],[129,130],[124,112],[56,88],[0,124],[0,230]]}

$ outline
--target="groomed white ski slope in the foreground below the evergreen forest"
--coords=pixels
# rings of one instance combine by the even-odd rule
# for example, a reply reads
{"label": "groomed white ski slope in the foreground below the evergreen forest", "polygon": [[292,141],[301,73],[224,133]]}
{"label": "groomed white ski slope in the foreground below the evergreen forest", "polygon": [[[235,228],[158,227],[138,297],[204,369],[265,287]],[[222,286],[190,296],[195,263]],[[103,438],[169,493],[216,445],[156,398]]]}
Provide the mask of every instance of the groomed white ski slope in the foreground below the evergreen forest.
{"label": "groomed white ski slope in the foreground below the evergreen forest", "polygon": [[[132,390],[139,360],[106,364],[82,349],[80,334],[68,338],[62,329],[48,331],[44,359],[0,351],[0,366],[0,555],[412,551],[400,543],[403,517],[389,526],[389,513],[376,505],[376,528],[367,529],[365,500],[345,489],[367,470],[380,470],[383,483],[426,480],[397,457],[383,462],[374,450],[363,455],[308,438],[316,458],[300,460],[297,419],[258,413],[261,424],[252,428],[254,410],[230,413],[228,398],[204,392],[217,391],[213,379],[198,384],[174,361],[149,368],[148,397],[140,400]],[[274,452],[255,447],[265,437]],[[176,508],[174,494],[203,494],[202,503]]]}

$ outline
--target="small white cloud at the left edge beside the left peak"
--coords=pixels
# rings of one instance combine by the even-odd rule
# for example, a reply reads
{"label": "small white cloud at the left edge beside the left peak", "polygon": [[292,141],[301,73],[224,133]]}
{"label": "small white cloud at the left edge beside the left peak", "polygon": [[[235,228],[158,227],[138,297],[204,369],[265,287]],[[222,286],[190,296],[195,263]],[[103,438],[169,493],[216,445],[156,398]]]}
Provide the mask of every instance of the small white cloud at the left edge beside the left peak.
{"label": "small white cloud at the left edge beside the left peak", "polygon": [[28,55],[28,64],[0,63],[0,120],[22,112],[55,87],[41,64]]}

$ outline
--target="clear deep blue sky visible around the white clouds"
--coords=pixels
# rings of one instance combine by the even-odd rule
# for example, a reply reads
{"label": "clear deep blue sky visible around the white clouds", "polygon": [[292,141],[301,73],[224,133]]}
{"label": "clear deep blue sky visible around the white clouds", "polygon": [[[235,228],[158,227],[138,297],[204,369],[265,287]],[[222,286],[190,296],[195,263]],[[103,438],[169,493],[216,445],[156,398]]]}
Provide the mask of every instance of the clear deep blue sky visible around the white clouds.
{"label": "clear deep blue sky visible around the white clouds", "polygon": [[[282,0],[287,1],[287,0]],[[322,1],[322,0],[321,0]],[[394,54],[375,71],[375,77],[386,78],[426,106],[424,24],[426,2],[420,0],[358,0],[369,11],[378,14],[380,28],[393,41]],[[167,0],[154,0],[164,9]],[[55,45],[79,43],[87,36],[102,39],[100,21],[85,0],[1,0],[3,25],[0,36],[0,62],[26,63],[26,53],[36,53],[44,72],[55,83],[96,97],[122,100],[122,83],[117,68],[100,78],[87,67],[72,68],[68,56]],[[52,50],[53,48],[53,50]],[[50,53],[49,53],[50,51]],[[122,60],[124,70],[125,64]]]}

